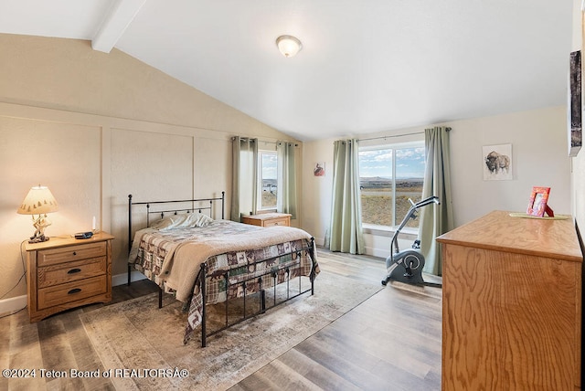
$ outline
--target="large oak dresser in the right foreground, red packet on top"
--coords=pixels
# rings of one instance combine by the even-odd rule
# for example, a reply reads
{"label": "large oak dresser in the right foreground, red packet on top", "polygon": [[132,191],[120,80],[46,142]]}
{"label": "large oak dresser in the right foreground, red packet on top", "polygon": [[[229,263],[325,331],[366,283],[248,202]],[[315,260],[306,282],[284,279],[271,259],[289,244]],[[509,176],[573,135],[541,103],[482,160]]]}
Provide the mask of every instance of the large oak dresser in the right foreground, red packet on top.
{"label": "large oak dresser in the right foreground, red packet on top", "polygon": [[442,243],[443,390],[580,389],[574,221],[492,212]]}

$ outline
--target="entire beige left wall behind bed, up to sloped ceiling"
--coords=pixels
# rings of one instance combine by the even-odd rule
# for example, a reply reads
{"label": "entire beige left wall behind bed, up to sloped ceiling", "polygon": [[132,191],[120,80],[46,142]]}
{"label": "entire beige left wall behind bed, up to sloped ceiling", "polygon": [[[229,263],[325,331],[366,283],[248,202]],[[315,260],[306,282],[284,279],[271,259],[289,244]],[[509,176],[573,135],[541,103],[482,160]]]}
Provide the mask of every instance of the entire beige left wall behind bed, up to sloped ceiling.
{"label": "entire beige left wall behind bed, up to sloped ceiling", "polygon": [[124,280],[129,194],[226,191],[229,216],[231,136],[294,141],[119,50],[0,34],[0,53],[10,58],[0,61],[0,313],[26,304],[20,246],[34,227],[16,208],[31,186],[57,198],[49,237],[88,230],[94,216],[115,236],[112,273]]}

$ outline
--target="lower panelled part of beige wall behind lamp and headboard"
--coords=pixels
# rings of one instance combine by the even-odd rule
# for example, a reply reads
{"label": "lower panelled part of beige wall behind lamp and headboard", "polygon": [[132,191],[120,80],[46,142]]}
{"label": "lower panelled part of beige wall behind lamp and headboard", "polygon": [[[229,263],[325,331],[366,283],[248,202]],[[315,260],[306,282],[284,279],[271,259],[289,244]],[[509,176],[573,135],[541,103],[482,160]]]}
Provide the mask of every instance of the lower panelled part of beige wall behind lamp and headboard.
{"label": "lower panelled part of beige wall behind lamp and headboard", "polygon": [[[49,237],[90,230],[92,217],[114,235],[114,276],[126,272],[129,194],[139,202],[231,190],[231,142],[224,132],[0,102],[0,140],[2,293],[23,273],[20,248],[34,227],[16,208],[33,185],[48,185],[58,201],[48,216]],[[229,197],[226,206],[229,214]],[[25,293],[21,283],[7,297]]]}

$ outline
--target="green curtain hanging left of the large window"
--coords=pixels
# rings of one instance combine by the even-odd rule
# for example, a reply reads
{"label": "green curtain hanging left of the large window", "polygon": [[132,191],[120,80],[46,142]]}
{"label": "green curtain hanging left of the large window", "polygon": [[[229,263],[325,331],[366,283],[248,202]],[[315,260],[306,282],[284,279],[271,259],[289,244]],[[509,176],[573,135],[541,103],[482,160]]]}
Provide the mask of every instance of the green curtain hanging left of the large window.
{"label": "green curtain hanging left of the large window", "polygon": [[363,254],[357,140],[338,140],[333,154],[333,199],[329,249]]}

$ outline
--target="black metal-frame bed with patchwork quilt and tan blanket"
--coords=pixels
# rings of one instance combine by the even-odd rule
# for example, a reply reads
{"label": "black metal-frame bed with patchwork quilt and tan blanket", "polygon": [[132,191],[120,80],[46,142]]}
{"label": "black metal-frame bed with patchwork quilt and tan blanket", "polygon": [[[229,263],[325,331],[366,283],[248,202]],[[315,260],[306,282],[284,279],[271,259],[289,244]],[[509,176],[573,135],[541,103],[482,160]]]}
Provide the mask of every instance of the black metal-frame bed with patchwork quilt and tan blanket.
{"label": "black metal-frame bed with patchwork quilt and tan blanket", "polygon": [[[128,284],[137,269],[158,285],[159,307],[163,292],[184,303],[184,343],[200,328],[205,347],[211,335],[304,293],[314,294],[319,266],[311,235],[294,227],[233,222],[224,219],[224,211],[223,192],[150,202],[128,196]],[[243,301],[243,312],[234,317],[229,303],[236,300],[240,306]],[[218,303],[225,303],[225,316],[219,327],[207,331],[207,308]]]}

